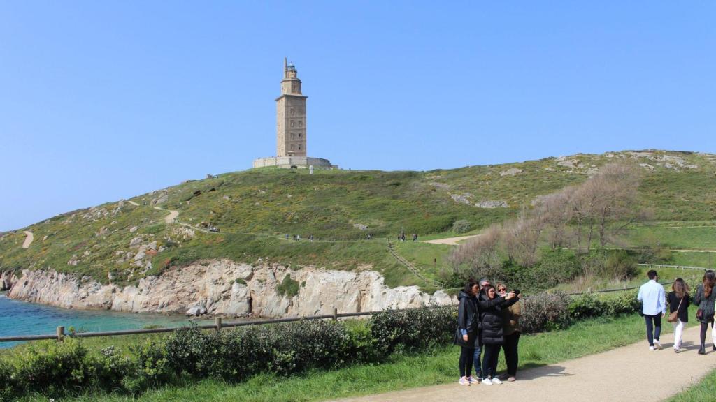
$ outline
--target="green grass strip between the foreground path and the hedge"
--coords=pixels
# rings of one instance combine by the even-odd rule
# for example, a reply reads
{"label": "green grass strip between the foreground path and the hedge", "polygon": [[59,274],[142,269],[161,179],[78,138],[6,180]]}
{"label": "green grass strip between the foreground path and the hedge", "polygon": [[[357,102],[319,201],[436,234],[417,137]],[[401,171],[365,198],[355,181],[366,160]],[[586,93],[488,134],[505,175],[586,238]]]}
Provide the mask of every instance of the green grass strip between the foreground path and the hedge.
{"label": "green grass strip between the foreground path and the hedge", "polygon": [[[671,332],[664,325],[664,333]],[[520,340],[520,369],[558,363],[592,353],[629,345],[644,337],[644,321],[638,315],[599,318],[576,323],[566,330],[523,335]],[[644,340],[644,342],[646,342]],[[565,348],[564,345],[569,345]],[[395,355],[387,363],[359,365],[335,371],[315,371],[301,376],[260,375],[245,383],[222,381],[186,383],[149,391],[137,398],[89,393],[72,401],[323,401],[346,396],[367,395],[433,384],[451,383],[458,378],[459,350],[437,348],[420,355]],[[499,370],[503,370],[500,359]],[[24,401],[47,401],[30,396]]]}

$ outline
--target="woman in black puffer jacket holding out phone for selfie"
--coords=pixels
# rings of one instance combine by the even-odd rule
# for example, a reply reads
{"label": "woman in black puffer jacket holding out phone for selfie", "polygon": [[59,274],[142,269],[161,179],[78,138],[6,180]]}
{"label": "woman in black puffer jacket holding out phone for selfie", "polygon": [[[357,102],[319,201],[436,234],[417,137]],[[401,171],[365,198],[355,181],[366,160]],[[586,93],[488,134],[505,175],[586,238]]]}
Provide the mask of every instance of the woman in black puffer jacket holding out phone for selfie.
{"label": "woman in black puffer jacket holding out phone for selfie", "polygon": [[491,386],[493,383],[501,384],[495,372],[503,343],[502,309],[517,303],[519,298],[514,292],[498,296],[493,285],[485,285],[480,290],[478,306],[480,308],[480,325],[482,326],[481,340],[485,356],[483,357],[483,384]]}

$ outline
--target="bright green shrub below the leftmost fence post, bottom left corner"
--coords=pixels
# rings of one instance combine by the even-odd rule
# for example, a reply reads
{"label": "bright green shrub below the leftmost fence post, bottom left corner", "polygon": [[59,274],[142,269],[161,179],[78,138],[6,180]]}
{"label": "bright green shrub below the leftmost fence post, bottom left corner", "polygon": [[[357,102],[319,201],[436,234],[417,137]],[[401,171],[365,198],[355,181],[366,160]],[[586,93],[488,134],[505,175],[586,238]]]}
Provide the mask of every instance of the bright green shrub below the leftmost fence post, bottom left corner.
{"label": "bright green shrub below the leftmost fence post, bottom left corner", "polygon": [[15,378],[21,389],[54,395],[87,386],[95,376],[90,360],[87,349],[72,338],[34,343],[19,355]]}

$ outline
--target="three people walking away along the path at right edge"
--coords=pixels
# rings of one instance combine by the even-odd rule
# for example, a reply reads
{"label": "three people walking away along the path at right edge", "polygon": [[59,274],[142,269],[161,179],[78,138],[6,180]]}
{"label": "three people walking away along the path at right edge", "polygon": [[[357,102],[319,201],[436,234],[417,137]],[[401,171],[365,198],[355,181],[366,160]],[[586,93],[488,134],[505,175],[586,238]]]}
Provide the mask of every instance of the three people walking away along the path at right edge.
{"label": "three people walking away along the path at right edge", "polygon": [[695,317],[701,325],[698,353],[706,354],[706,331],[709,324],[711,324],[712,348],[716,350],[716,332],[714,332],[716,273],[712,270],[704,273],[702,283],[696,288],[693,298],[689,293],[689,285],[682,278],[674,280],[672,291],[665,295],[664,286],[658,282],[657,271],[650,270],[647,276],[649,282],[639,288],[637,299],[642,302],[641,314],[644,315],[647,323],[649,350],[662,348],[659,335],[662,332],[662,318],[667,315],[667,307],[669,308],[668,321],[674,325],[674,352],[680,353],[683,350],[684,325],[689,322],[689,306],[692,302],[697,306]]}

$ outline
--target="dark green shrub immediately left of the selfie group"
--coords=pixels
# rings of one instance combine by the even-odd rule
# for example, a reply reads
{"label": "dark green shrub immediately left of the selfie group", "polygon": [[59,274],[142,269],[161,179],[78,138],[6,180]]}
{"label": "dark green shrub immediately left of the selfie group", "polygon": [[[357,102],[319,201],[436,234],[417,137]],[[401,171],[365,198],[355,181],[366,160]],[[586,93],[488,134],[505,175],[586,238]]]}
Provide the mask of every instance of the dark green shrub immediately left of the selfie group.
{"label": "dark green shrub immediately left of the selfie group", "polygon": [[372,316],[370,329],[378,353],[386,356],[397,348],[412,351],[449,343],[456,320],[453,306],[385,310]]}

